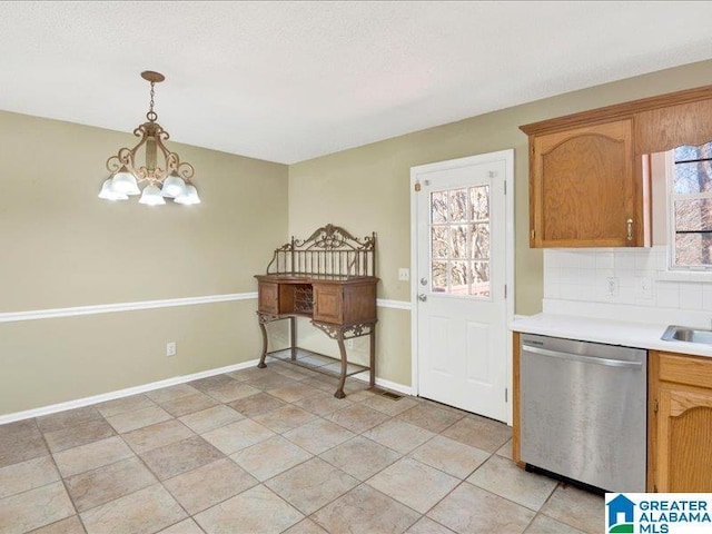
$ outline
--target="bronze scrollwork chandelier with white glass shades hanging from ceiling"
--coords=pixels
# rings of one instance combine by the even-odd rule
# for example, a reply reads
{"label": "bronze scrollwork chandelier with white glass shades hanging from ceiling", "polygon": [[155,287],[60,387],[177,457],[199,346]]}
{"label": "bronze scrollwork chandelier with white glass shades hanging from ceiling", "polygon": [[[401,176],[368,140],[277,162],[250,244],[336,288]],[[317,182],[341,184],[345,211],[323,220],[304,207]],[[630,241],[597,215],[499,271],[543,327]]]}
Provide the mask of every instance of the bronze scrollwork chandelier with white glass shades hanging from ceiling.
{"label": "bronze scrollwork chandelier with white glass shades hanging from ceiling", "polygon": [[[200,204],[198,191],[190,181],[195,174],[192,165],[180,161],[176,152],[166,148],[164,141],[170,136],[156,122],[158,115],[154,111],[154,86],[166,77],[147,70],[141,72],[141,78],[151,85],[151,99],[146,113],[148,122],[134,130],[134,135],[141,138],[138,145],[121,148],[107,160],[107,169],[111,176],[101,186],[99,198],[128,200],[130,196],[140,195],[139,204],[148,206],[166,204],[166,198],[184,205]],[[141,148],[145,152],[144,165],[137,160]],[[145,185],[144,190],[139,188],[139,184]]]}

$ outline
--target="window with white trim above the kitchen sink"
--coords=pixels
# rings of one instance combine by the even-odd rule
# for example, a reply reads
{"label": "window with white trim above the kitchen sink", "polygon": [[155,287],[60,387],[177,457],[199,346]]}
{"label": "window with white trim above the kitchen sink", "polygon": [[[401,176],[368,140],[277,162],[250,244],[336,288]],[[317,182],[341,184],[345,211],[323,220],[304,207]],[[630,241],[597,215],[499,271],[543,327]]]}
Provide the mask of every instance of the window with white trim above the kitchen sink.
{"label": "window with white trim above the kitchen sink", "polygon": [[671,152],[670,270],[712,271],[712,142],[678,147]]}

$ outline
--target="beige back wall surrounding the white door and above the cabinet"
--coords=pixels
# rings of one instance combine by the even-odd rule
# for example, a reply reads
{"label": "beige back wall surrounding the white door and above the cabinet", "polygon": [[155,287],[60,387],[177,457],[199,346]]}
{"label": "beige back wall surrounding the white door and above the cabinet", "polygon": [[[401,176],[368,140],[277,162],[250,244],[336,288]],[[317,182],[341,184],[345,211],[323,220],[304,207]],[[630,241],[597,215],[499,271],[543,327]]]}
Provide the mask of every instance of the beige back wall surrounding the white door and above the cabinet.
{"label": "beige back wall surrounding the white door and above the cabinet", "polygon": [[[541,310],[542,254],[528,248],[527,139],[520,125],[611,103],[712,85],[712,61],[641,76],[481,117],[345,150],[289,167],[289,231],[307,235],[334,222],[357,235],[378,234],[379,298],[409,300],[408,283],[398,281],[399,267],[411,264],[411,167],[495,150],[515,150],[517,314]],[[408,316],[407,310],[389,310]],[[409,319],[392,323],[382,314],[378,374],[409,384]],[[399,329],[396,333],[396,329]],[[383,343],[386,343],[382,339]],[[387,356],[386,356],[387,355]],[[397,364],[387,358],[398,358]],[[406,382],[404,377],[407,377]]]}

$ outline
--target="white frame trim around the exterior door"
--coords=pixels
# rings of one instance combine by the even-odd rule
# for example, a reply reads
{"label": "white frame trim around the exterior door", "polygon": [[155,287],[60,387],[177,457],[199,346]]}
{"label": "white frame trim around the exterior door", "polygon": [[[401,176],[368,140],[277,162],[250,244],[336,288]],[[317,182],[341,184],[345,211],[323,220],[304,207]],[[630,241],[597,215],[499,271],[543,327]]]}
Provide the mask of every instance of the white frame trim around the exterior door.
{"label": "white frame trim around the exterior door", "polygon": [[[507,285],[507,298],[505,301],[506,317],[504,328],[506,339],[506,363],[505,363],[505,384],[508,389],[507,399],[505,402],[505,413],[507,414],[507,424],[512,424],[512,343],[508,325],[514,319],[514,149],[498,150],[496,152],[479,154],[465,158],[449,159],[446,161],[436,161],[433,164],[418,165],[411,167],[411,388],[413,395],[418,395],[418,244],[417,244],[417,192],[415,184],[423,175],[433,171],[456,169],[471,165],[481,165],[492,161],[503,161],[505,164],[506,195],[505,204],[505,284]],[[504,395],[504,392],[502,392]]]}

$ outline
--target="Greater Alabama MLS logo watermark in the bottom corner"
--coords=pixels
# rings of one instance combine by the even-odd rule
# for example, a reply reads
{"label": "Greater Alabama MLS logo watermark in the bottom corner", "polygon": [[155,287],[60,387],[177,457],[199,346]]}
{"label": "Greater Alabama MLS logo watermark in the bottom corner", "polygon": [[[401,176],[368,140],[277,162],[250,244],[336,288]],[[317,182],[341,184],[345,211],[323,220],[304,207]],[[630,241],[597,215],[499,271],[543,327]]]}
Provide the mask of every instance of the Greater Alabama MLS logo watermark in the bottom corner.
{"label": "Greater Alabama MLS logo watermark in the bottom corner", "polygon": [[712,493],[606,493],[607,534],[710,534]]}

